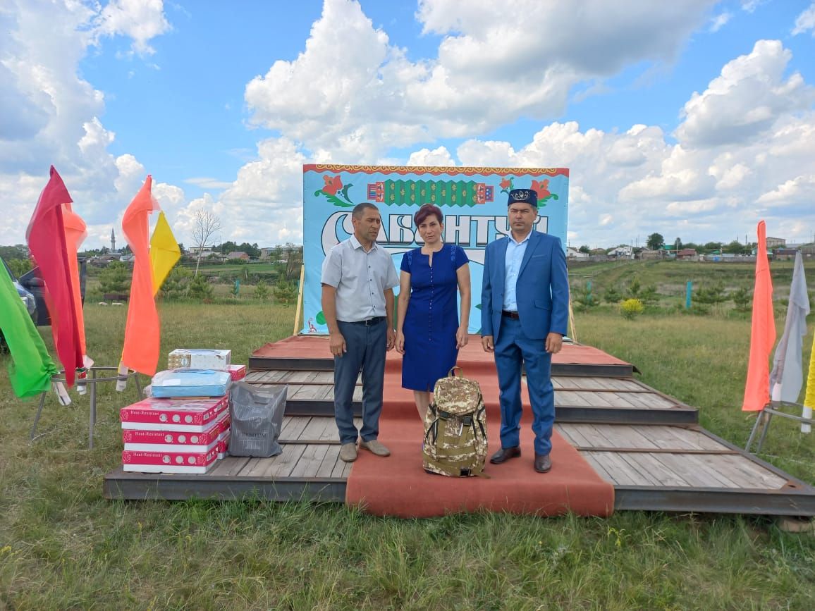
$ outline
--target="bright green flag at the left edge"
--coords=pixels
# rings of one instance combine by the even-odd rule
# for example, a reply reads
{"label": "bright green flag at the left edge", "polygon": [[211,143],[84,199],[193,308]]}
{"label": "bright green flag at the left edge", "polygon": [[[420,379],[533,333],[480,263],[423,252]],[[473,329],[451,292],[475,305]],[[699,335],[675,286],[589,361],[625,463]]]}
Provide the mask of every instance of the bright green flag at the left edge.
{"label": "bright green flag at the left edge", "polygon": [[6,266],[0,264],[0,331],[11,352],[8,374],[20,397],[34,397],[51,388],[56,365],[37,327],[25,310]]}

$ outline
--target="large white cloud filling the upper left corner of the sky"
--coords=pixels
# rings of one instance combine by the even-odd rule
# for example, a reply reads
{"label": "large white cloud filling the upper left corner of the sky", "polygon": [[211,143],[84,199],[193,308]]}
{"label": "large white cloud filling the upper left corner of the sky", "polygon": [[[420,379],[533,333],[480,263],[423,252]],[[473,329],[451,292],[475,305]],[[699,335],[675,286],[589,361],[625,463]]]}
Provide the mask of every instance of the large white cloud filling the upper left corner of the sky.
{"label": "large white cloud filling the upper left corner of the sky", "polygon": [[[108,243],[117,210],[144,179],[131,155],[109,152],[115,134],[100,117],[104,94],[79,76],[79,64],[99,35],[133,37],[146,52],[161,29],[161,2],[97,3],[6,0],[0,8],[0,195],[14,213],[0,234],[22,242],[37,196],[53,164],[88,224],[89,238]],[[118,11],[118,12],[117,12]],[[162,16],[163,19],[163,16]],[[97,26],[99,29],[96,29]],[[135,185],[135,187],[134,187]],[[5,208],[5,206],[4,206]]]}

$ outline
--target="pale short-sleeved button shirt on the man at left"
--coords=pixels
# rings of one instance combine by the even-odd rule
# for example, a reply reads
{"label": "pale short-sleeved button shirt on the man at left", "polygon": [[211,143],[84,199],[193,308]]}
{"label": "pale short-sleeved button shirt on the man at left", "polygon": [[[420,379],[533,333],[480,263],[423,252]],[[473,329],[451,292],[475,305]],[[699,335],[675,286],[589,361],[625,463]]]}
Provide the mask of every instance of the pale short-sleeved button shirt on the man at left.
{"label": "pale short-sleeved button shirt on the man at left", "polygon": [[325,257],[320,282],[337,289],[337,320],[355,323],[385,316],[384,293],[399,284],[399,277],[385,248],[374,242],[366,253],[351,235]]}

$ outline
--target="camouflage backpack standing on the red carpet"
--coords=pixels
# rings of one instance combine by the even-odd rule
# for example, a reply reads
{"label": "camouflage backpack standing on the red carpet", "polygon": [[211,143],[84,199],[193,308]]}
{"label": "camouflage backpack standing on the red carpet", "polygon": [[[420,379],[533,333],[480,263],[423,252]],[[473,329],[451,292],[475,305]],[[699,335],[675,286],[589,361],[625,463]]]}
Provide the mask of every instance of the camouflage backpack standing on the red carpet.
{"label": "camouflage backpack standing on the red carpet", "polygon": [[487,412],[481,387],[476,380],[456,376],[456,369],[436,382],[425,414],[425,471],[448,477],[489,477],[483,473]]}

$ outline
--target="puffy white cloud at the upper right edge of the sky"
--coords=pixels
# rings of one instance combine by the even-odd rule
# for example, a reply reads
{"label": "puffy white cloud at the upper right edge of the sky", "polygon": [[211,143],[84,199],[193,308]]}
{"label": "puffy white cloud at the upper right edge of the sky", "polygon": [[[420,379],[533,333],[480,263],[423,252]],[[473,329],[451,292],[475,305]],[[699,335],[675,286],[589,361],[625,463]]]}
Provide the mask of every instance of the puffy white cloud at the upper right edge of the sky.
{"label": "puffy white cloud at the upper right edge of the sky", "polygon": [[780,41],[756,42],[749,55],[725,64],[707,90],[694,92],[677,138],[689,147],[744,144],[770,130],[779,116],[810,108],[813,87],[799,73],[783,78],[790,59]]}

